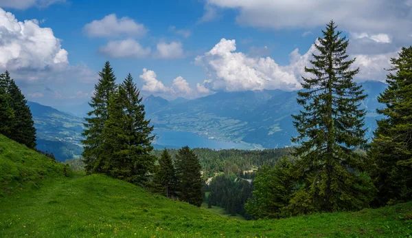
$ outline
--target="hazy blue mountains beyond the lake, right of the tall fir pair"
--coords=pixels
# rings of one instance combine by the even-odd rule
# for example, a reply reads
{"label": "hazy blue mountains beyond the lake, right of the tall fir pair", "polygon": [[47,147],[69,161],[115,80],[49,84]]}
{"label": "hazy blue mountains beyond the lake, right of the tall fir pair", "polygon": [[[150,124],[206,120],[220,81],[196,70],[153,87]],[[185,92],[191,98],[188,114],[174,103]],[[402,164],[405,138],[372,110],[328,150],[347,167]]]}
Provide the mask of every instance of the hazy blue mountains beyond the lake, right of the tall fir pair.
{"label": "hazy blue mountains beyond the lake, right of the tall fir pair", "polygon": [[[386,85],[378,81],[366,81],[361,85],[369,95],[362,107],[367,109],[365,127],[370,138],[376,128],[376,119],[380,118],[376,108],[382,107],[376,98]],[[291,146],[290,138],[297,134],[290,116],[301,109],[296,98],[297,91],[278,89],[218,92],[178,104],[156,105],[156,109],[150,109],[148,104],[146,110],[157,129],[191,131],[218,140],[274,148]]]}

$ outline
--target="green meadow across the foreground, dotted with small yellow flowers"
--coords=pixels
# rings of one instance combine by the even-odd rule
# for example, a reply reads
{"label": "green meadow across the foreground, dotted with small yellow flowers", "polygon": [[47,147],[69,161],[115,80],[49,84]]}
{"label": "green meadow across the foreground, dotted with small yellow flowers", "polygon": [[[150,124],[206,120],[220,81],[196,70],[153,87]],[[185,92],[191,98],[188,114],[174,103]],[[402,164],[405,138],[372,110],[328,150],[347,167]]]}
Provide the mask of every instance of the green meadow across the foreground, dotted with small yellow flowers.
{"label": "green meadow across the foreground, dotted with small yellow flowers", "polygon": [[412,202],[240,221],[104,175],[47,175],[0,197],[0,237],[412,237]]}

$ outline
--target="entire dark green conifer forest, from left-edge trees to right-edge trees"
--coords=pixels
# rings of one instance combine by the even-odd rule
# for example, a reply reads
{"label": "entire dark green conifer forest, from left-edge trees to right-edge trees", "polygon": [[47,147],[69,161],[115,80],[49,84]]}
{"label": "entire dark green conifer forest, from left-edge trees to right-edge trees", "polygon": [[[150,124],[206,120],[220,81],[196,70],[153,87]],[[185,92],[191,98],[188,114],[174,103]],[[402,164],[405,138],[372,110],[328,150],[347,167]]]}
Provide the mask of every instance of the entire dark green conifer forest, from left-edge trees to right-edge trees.
{"label": "entire dark green conifer forest, from left-edge trees to right-edge trees", "polygon": [[[412,46],[390,58],[385,105],[371,142],[365,139],[367,95],[354,80],[349,40],[330,21],[304,70],[293,115],[293,148],[154,151],[153,126],[128,74],[116,83],[107,61],[84,124],[87,175],[104,174],[195,206],[221,206],[247,219],[355,211],[412,199]],[[0,133],[34,149],[30,108],[10,74],[0,75]],[[48,154],[47,154],[48,155]],[[53,155],[48,155],[53,159]],[[73,163],[74,164],[74,163]],[[76,166],[80,166],[77,164]]]}

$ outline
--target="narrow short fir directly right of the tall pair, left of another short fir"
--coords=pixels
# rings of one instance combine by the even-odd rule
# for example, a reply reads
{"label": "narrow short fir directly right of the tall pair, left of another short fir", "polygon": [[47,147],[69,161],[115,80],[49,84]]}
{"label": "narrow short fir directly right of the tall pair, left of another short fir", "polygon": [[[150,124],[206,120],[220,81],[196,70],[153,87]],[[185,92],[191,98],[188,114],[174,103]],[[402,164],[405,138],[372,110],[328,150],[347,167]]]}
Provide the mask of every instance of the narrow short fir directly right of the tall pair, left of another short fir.
{"label": "narrow short fir directly right of the tall pair, left of another short fir", "polygon": [[160,188],[160,193],[166,197],[176,195],[176,174],[174,172],[172,156],[170,156],[166,149],[163,150],[159,159],[159,169],[153,177],[153,182]]}

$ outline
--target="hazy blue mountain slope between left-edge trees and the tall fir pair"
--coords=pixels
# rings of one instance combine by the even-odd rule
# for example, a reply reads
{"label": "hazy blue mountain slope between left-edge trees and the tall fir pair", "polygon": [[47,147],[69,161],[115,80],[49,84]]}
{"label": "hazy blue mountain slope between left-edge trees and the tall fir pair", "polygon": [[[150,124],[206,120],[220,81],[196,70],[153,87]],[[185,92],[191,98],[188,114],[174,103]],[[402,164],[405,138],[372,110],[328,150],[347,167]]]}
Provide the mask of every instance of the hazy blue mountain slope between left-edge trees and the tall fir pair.
{"label": "hazy blue mountain slope between left-edge trees and the tall fir pair", "polygon": [[57,160],[77,158],[82,153],[82,118],[53,107],[27,102],[36,127],[37,149],[53,153]]}

